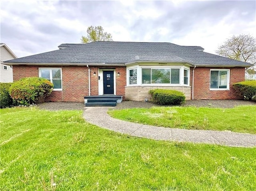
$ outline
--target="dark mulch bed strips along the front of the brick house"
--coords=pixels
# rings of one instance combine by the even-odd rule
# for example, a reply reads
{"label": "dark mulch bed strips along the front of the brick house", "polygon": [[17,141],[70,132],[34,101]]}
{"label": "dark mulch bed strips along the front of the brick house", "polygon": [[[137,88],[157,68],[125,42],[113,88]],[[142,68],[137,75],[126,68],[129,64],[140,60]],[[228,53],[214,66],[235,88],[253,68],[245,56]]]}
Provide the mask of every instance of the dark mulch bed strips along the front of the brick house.
{"label": "dark mulch bed strips along the front of the brick house", "polygon": [[[246,100],[187,100],[182,106],[210,107],[210,108],[233,108],[239,105],[256,105],[256,102]],[[84,102],[44,102],[37,105],[46,110],[84,110]],[[151,108],[159,106],[152,102],[122,101],[113,109],[126,108]]]}

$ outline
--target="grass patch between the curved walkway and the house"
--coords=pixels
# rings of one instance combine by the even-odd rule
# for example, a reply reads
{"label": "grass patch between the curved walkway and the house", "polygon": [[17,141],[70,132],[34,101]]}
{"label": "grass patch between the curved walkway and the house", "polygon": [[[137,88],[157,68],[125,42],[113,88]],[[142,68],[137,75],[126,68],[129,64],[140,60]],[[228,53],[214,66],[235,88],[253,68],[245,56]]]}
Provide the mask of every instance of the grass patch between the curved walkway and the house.
{"label": "grass patch between the curved walkway and the house", "polygon": [[109,110],[114,118],[182,129],[230,130],[256,134],[256,106],[235,108],[152,107]]}

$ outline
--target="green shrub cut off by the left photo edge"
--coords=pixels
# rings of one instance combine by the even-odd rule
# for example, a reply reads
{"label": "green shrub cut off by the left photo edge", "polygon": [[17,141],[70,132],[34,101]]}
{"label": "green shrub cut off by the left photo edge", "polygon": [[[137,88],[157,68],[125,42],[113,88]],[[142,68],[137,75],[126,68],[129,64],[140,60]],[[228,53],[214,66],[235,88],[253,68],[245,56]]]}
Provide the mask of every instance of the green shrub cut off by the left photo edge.
{"label": "green shrub cut off by the left photo edge", "polygon": [[11,107],[13,101],[9,95],[9,90],[12,83],[0,83],[0,108]]}

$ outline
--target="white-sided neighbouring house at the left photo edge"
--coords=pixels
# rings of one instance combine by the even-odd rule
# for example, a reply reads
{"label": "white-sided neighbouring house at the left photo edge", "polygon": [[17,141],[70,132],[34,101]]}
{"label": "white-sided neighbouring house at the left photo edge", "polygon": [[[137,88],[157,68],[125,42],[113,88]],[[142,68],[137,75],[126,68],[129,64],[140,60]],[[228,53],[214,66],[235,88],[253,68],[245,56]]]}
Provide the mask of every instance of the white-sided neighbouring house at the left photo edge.
{"label": "white-sided neighbouring house at the left photo edge", "polygon": [[5,43],[0,43],[0,82],[13,82],[12,67],[3,61],[18,58]]}

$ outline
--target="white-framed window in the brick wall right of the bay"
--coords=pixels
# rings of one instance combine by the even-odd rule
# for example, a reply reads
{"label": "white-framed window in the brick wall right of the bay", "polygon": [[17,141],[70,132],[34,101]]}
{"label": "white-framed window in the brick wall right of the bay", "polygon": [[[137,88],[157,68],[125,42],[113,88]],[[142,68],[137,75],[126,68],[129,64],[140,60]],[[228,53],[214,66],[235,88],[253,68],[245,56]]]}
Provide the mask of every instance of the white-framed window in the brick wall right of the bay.
{"label": "white-framed window in the brick wall right of the bay", "polygon": [[229,89],[229,70],[211,70],[210,89]]}

